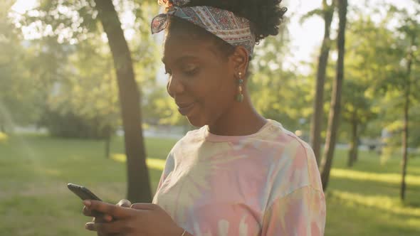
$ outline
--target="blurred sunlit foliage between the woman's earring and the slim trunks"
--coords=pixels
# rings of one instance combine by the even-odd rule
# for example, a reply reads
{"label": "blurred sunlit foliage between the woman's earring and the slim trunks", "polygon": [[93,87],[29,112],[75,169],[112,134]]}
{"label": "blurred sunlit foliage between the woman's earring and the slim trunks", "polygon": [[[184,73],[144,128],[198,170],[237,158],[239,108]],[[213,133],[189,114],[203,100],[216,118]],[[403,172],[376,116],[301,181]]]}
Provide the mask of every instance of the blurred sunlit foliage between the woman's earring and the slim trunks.
{"label": "blurred sunlit foliage between the woman's earring and the slim trunks", "polygon": [[297,65],[287,63],[291,53],[288,22],[281,26],[278,36],[266,38],[256,47],[248,89],[264,117],[278,120],[290,130],[308,128],[313,85],[308,77],[295,73]]}

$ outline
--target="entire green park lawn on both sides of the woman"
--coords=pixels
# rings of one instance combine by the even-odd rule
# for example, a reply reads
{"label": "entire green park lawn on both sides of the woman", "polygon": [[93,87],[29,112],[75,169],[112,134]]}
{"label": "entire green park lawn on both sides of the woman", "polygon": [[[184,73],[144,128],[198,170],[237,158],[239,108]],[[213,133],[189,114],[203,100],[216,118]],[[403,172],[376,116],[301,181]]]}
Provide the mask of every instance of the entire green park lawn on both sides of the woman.
{"label": "entire green park lawn on both sides of the woman", "polygon": [[[152,189],[175,140],[147,139]],[[105,159],[101,141],[14,136],[0,140],[0,235],[92,235],[80,200],[65,186],[80,183],[104,200],[125,197],[122,141]],[[410,159],[406,202],[399,201],[399,157],[381,165],[360,154],[355,168],[337,151],[327,193],[326,235],[420,235],[420,158]],[[117,161],[115,161],[117,160]]]}

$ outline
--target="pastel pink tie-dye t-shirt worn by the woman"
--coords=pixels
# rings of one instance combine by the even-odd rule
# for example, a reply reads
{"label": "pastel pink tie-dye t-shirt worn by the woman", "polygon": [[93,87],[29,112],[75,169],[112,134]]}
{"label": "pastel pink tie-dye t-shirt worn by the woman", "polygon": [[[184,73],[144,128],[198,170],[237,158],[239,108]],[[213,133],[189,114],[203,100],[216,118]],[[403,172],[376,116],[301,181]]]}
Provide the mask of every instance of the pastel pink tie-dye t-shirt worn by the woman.
{"label": "pastel pink tie-dye t-shirt worn by the woman", "polygon": [[323,235],[325,227],[313,151],[273,120],[248,136],[186,134],[153,203],[194,236]]}

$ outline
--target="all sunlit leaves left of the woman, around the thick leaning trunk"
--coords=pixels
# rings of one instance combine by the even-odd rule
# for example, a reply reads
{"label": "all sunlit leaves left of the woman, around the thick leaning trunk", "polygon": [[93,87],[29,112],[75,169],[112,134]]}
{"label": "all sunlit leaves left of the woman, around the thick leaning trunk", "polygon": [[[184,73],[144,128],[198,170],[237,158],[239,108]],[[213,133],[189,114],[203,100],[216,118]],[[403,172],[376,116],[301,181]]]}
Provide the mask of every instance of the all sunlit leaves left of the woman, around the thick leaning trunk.
{"label": "all sunlit leaves left of the woman, around the thick leaning trunk", "polygon": [[[127,31],[135,29],[129,43],[137,82],[147,85],[154,81],[158,50],[149,36],[149,23],[145,22],[157,12],[157,4],[117,1],[116,9],[120,18],[129,16],[130,20],[130,12],[138,17],[126,27]],[[25,110],[31,114],[52,112],[80,119],[98,129],[120,126],[117,80],[97,15],[92,0],[41,0],[19,21],[22,26],[36,26],[33,31],[41,38],[21,41],[18,31],[11,31],[16,30],[13,24],[0,24],[0,36],[8,34],[7,44],[2,45],[6,41],[0,37],[1,48],[6,48],[0,55],[0,77],[6,76],[0,80],[0,102],[13,107],[9,110],[14,116],[32,117],[22,115]],[[3,64],[7,66],[2,67]],[[38,119],[34,116],[31,123]]]}

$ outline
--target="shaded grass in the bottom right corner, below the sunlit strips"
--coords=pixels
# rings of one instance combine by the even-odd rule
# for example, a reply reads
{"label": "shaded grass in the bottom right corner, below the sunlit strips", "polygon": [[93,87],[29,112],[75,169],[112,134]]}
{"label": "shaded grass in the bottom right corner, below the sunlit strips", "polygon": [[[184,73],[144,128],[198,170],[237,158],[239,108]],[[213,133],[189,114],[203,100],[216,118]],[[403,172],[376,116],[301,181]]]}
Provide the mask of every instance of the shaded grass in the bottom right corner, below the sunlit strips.
{"label": "shaded grass in the bottom right corner, below the sunlit strips", "polygon": [[[350,198],[346,198],[345,196]],[[419,235],[420,211],[391,210],[379,207],[381,199],[374,198],[377,204],[356,200],[359,196],[342,191],[327,193],[327,225],[325,235]],[[384,203],[387,204],[387,203]],[[394,207],[394,206],[390,206]],[[397,208],[397,207],[394,207]]]}

